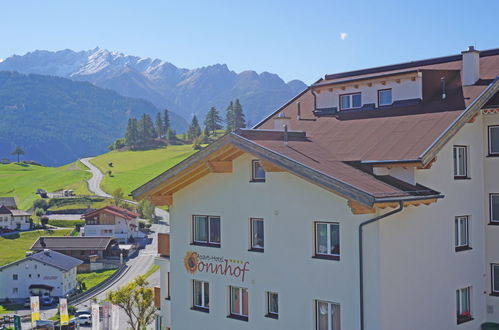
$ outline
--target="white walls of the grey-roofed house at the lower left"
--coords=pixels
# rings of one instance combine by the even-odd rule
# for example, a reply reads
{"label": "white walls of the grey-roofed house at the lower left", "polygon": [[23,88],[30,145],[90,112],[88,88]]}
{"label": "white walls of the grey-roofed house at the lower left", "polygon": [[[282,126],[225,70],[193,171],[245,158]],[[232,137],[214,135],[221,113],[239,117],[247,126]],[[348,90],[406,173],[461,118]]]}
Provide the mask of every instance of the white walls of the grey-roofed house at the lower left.
{"label": "white walls of the grey-roofed house at the lower left", "polygon": [[[52,297],[64,297],[77,286],[76,267],[60,268],[33,259],[23,259],[0,269],[0,300],[24,299],[42,292]],[[29,289],[30,285],[48,285],[51,291]]]}

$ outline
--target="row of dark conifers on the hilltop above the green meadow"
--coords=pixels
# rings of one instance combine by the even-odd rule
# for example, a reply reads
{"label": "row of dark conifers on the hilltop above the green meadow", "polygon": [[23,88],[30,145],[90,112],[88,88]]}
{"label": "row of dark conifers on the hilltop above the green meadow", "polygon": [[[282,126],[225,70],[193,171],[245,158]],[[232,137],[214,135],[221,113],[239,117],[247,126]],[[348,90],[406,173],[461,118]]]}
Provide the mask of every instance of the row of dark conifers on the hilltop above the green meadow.
{"label": "row of dark conifers on the hilltop above the green meadow", "polygon": [[227,106],[225,120],[215,107],[211,107],[201,128],[196,115],[192,117],[187,132],[177,136],[176,131],[171,128],[168,110],[156,114],[156,120],[144,113],[139,119],[129,118],[128,125],[123,138],[117,139],[109,149],[121,149],[127,147],[131,150],[165,146],[177,143],[192,143],[195,149],[199,149],[202,143],[209,143],[216,138],[217,132],[225,128],[225,132],[233,132],[238,128],[246,127],[246,119],[243,107],[238,99],[231,101]]}

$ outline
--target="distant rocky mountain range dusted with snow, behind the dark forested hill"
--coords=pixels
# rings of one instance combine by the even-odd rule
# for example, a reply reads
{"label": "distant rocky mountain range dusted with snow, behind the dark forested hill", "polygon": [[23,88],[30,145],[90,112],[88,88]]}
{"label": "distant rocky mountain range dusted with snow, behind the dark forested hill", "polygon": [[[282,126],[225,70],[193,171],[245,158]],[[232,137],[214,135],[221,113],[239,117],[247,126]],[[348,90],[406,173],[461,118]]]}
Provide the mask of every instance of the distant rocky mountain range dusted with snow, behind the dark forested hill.
{"label": "distant rocky mountain range dusted with snow, behind the dark forested hill", "polygon": [[123,96],[150,101],[188,121],[194,114],[203,120],[212,106],[223,115],[228,103],[238,98],[249,125],[306,88],[299,80],[286,83],[268,72],[236,73],[224,64],[184,69],[163,60],[101,48],[79,52],[36,50],[22,56],[14,55],[0,62],[0,71],[88,81]]}

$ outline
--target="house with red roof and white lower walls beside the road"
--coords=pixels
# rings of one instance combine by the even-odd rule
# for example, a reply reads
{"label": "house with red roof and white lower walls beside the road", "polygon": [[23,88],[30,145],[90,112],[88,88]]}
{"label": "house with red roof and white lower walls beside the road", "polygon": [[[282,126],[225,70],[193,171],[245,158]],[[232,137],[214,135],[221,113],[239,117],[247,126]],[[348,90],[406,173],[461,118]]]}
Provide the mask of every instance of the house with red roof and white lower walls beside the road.
{"label": "house with red roof and white lower walls beside the road", "polygon": [[144,237],[139,231],[139,214],[114,205],[83,214],[84,236],[113,237],[119,242]]}

